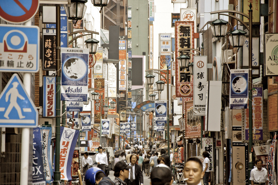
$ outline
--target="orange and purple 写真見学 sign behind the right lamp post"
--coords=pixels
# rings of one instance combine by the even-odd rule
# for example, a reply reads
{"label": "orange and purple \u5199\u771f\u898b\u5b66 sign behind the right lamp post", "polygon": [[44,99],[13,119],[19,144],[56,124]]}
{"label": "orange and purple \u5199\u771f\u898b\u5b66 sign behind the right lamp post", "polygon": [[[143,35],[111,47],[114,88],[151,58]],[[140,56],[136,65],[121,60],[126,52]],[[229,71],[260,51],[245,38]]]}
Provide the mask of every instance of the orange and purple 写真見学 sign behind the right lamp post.
{"label": "orange and purple \u5199\u771f\u898b\u5b66 sign behind the right lamp post", "polygon": [[[263,88],[253,87],[252,89],[253,101],[253,140],[263,140]],[[248,102],[249,104],[249,102]],[[244,114],[244,130],[245,140],[249,140],[249,106],[245,109]]]}

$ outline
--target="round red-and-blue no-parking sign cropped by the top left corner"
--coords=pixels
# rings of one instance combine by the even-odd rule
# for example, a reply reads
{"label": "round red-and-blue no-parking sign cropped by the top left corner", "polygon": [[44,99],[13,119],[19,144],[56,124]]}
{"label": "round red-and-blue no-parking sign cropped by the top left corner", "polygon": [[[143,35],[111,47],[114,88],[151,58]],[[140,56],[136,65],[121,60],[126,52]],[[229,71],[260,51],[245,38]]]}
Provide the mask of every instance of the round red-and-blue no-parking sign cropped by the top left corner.
{"label": "round red-and-blue no-parking sign cropped by the top left corner", "polygon": [[39,0],[5,0],[0,2],[0,17],[7,22],[22,23],[30,20],[38,8]]}

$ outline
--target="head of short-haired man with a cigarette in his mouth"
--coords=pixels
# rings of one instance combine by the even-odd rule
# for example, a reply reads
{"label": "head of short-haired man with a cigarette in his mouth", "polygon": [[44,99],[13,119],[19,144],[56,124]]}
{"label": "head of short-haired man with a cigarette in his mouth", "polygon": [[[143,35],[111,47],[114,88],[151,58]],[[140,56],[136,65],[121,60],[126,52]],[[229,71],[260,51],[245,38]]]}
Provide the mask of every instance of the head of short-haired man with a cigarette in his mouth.
{"label": "head of short-haired man with a cigarette in his mouth", "polygon": [[201,178],[204,176],[202,162],[197,157],[189,157],[183,169],[186,180],[185,185],[201,185]]}

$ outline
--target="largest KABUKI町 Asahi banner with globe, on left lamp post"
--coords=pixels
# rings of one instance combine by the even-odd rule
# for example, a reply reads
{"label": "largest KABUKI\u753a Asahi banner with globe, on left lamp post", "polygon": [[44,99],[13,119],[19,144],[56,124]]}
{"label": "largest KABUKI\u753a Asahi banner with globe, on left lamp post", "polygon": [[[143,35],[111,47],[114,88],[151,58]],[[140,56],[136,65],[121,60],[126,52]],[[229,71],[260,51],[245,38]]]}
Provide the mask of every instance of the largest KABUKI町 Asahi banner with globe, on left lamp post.
{"label": "largest KABUKI\u753a Asahi banner with globe, on left lamp post", "polygon": [[89,49],[61,48],[61,101],[87,101]]}

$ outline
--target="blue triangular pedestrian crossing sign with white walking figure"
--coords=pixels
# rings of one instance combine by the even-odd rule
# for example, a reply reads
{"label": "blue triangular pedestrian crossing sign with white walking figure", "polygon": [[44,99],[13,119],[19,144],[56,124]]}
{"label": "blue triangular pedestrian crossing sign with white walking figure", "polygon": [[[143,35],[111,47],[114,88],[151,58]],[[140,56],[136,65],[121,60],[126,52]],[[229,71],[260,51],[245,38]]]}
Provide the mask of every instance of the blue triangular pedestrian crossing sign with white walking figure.
{"label": "blue triangular pedestrian crossing sign with white walking figure", "polygon": [[17,74],[0,95],[0,127],[38,126],[38,111]]}

